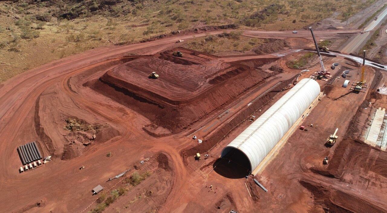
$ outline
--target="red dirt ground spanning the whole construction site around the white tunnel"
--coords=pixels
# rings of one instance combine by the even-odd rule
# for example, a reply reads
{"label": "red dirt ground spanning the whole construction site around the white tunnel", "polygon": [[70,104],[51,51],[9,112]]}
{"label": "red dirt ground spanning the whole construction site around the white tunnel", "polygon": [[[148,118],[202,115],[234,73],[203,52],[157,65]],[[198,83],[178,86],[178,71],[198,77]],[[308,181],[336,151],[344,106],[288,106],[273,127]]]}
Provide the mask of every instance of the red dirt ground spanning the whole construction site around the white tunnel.
{"label": "red dirt ground spanning the whole construction site around the white tunnel", "polygon": [[[294,36],[302,37],[306,32],[300,31]],[[337,32],[316,32],[316,35],[334,37]],[[195,37],[206,34],[196,33]],[[244,34],[293,36],[291,32],[282,31],[249,30]],[[368,69],[366,74],[370,82],[368,93],[348,93],[348,88],[341,87],[343,79],[328,82],[331,84],[329,93],[302,122],[303,125],[313,123],[315,127],[308,132],[296,131],[277,157],[254,177],[269,190],[264,192],[255,185],[252,176],[245,178],[243,165],[234,161],[228,163],[219,159],[219,155],[222,148],[248,126],[249,121],[245,120],[248,115],[263,113],[289,89],[279,91],[299,70],[288,69],[273,60],[292,55],[296,50],[264,56],[215,57],[202,53],[191,55],[194,52],[180,49],[188,60],[170,58],[171,51],[179,44],[176,43],[178,39],[193,37],[184,35],[99,48],[29,70],[0,85],[2,211],[88,212],[96,207],[98,198],[92,196],[91,189],[101,184],[108,196],[117,187],[128,188],[105,212],[227,213],[231,209],[238,212],[327,212],[327,208],[329,212],[387,212],[384,205],[387,194],[385,152],[358,143],[356,135],[366,125],[359,121],[357,112],[363,112],[365,107],[361,103],[370,100],[370,92],[375,89],[373,69]],[[307,41],[301,40],[288,39],[294,47],[305,46]],[[144,64],[153,61],[154,64]],[[334,61],[346,62],[342,58],[325,58],[327,64]],[[161,63],[157,71],[161,77],[156,80],[159,84],[147,86],[151,79],[146,77],[155,69],[154,65],[158,65],[156,62]],[[178,71],[164,69],[165,65]],[[283,73],[269,70],[273,65],[283,69]],[[200,69],[190,70],[189,67]],[[231,71],[243,69],[243,72],[233,72],[229,76],[227,67],[233,67]],[[351,68],[358,71],[356,67]],[[317,69],[311,67],[310,70]],[[200,75],[203,70],[208,74]],[[332,75],[338,75],[339,71],[337,67]],[[191,72],[192,76],[183,76],[186,72]],[[175,74],[175,79],[166,78],[163,85],[165,74]],[[224,74],[226,76],[222,76]],[[131,79],[135,75],[141,79]],[[217,76],[220,76],[219,82],[211,81]],[[305,73],[301,78],[309,76],[310,73]],[[348,79],[358,81],[358,76],[352,74]],[[267,79],[274,82],[266,82]],[[179,81],[190,86],[177,84]],[[263,94],[259,88],[269,89],[271,86],[268,88],[265,84],[278,82],[281,85],[251,105],[245,105]],[[138,91],[127,86],[135,84],[140,88]],[[324,88],[327,82],[319,81],[319,84]],[[179,93],[172,93],[172,90]],[[378,99],[379,104],[386,104],[383,100]],[[239,102],[243,106],[230,112],[233,117],[215,124],[210,132],[198,134],[203,136],[204,142],[197,146],[190,134]],[[256,111],[261,106],[262,111]],[[98,132],[69,132],[63,129],[68,117],[86,124],[101,124],[103,128]],[[325,140],[336,127],[339,127],[339,140],[332,148],[327,148]],[[90,140],[92,133],[96,133],[94,140]],[[351,139],[349,134],[356,137]],[[30,141],[36,141],[42,154],[51,155],[52,161],[19,173],[21,161],[16,147]],[[216,146],[211,146],[213,144]],[[194,160],[192,153],[203,150],[207,150],[209,156],[202,155],[201,160]],[[184,158],[182,152],[186,154]],[[330,157],[329,165],[322,165],[324,156]],[[139,163],[146,158],[150,160]],[[82,165],[85,168],[80,170]],[[128,169],[126,176],[135,171],[152,171],[152,175],[135,187],[123,184],[124,177],[108,181],[109,177]]]}

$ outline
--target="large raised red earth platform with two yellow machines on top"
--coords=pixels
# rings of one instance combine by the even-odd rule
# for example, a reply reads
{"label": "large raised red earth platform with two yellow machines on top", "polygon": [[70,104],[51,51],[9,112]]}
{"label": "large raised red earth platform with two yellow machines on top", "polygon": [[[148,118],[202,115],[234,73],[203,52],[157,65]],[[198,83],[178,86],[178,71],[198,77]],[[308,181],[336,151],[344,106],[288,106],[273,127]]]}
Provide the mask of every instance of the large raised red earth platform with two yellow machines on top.
{"label": "large raised red earth platform with two yellow machines on top", "polygon": [[[174,51],[183,57],[173,56]],[[259,67],[276,60],[224,62],[221,57],[176,48],[136,57],[87,86],[141,113],[152,122],[144,130],[162,136],[186,128],[275,75]],[[159,78],[149,78],[151,72]]]}

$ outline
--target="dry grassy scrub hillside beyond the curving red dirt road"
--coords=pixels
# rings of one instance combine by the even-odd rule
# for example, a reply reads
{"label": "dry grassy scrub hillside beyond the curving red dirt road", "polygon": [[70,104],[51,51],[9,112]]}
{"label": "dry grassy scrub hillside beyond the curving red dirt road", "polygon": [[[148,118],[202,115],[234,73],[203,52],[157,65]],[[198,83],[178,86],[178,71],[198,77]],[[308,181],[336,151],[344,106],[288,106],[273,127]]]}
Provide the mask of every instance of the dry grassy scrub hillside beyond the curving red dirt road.
{"label": "dry grassy scrub hillside beyond the curving red dirt road", "polygon": [[0,83],[52,60],[113,43],[204,25],[299,29],[332,12],[348,19],[374,1],[0,1]]}

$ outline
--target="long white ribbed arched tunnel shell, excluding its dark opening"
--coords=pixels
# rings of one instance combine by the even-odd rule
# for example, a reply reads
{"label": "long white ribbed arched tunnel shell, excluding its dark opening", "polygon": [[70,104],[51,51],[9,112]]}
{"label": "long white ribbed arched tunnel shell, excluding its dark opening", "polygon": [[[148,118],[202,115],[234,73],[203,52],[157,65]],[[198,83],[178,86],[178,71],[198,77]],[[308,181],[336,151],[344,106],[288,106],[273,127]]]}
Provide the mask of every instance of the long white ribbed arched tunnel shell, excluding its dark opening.
{"label": "long white ribbed arched tunnel shell, excluding its dark opening", "polygon": [[250,161],[252,172],[319,94],[320,86],[315,80],[302,79],[231,141],[221,157],[239,149]]}

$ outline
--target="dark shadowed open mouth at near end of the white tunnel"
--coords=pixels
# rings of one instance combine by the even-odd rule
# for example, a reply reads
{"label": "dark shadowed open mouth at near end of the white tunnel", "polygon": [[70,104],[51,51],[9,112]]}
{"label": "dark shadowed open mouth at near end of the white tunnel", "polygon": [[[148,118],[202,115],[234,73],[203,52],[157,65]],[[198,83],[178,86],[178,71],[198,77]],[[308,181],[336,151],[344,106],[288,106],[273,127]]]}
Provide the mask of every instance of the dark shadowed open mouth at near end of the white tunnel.
{"label": "dark shadowed open mouth at near end of the white tunnel", "polygon": [[229,179],[240,179],[250,174],[250,161],[245,153],[239,149],[226,147],[219,158],[212,165],[214,171]]}

